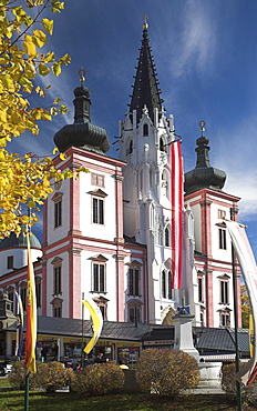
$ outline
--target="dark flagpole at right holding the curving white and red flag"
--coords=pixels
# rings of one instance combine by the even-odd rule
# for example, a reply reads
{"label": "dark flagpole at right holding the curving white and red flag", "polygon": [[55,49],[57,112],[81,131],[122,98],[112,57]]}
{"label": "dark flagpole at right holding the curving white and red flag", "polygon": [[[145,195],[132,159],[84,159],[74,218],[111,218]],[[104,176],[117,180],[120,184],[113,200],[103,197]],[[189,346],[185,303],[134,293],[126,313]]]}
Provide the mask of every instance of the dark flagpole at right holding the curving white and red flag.
{"label": "dark flagpole at right holding the curving white and red flag", "polygon": [[[230,219],[234,221],[234,209],[230,208]],[[240,370],[239,350],[238,350],[238,310],[237,310],[237,279],[235,269],[235,250],[232,241],[232,273],[233,273],[233,292],[234,292],[234,319],[235,319],[235,345],[236,345],[236,373]],[[240,381],[236,379],[237,388],[237,409],[241,411],[241,388]]]}

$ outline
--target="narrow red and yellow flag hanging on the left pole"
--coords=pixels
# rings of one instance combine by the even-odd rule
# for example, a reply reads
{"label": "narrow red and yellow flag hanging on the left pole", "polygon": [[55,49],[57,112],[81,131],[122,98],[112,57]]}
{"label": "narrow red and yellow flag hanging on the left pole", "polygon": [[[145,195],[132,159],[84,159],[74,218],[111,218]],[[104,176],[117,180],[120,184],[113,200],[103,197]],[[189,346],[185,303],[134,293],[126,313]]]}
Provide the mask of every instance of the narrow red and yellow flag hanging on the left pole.
{"label": "narrow red and yellow flag hanging on the left pole", "polygon": [[31,259],[29,233],[27,233],[27,244],[28,244],[28,285],[27,285],[25,367],[29,371],[37,372],[35,367],[37,301],[34,288],[34,271]]}

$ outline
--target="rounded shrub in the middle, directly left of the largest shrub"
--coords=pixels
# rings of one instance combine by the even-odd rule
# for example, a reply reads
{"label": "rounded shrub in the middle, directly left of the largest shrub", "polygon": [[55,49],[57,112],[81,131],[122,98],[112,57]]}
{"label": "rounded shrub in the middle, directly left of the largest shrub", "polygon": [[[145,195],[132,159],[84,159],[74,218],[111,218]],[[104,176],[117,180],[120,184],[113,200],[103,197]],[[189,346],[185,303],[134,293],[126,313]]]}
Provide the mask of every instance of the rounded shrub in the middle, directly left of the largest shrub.
{"label": "rounded shrub in the middle, directly left of the largest shrub", "polygon": [[84,395],[104,395],[124,385],[122,369],[112,363],[88,365],[74,374],[71,389]]}

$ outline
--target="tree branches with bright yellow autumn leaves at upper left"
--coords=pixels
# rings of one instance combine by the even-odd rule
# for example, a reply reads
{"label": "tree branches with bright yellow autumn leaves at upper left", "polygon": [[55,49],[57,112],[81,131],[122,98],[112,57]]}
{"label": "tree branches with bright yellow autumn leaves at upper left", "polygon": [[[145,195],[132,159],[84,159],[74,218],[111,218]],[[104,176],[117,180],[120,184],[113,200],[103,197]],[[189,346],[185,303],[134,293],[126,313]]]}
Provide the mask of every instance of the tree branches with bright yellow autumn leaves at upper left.
{"label": "tree branches with bright yellow autumn leaves at upper left", "polygon": [[48,93],[50,86],[37,84],[39,77],[50,72],[58,77],[71,61],[69,54],[56,58],[53,51],[40,52],[53,34],[53,20],[43,17],[44,12],[51,9],[52,13],[59,13],[64,2],[20,3],[0,0],[0,239],[12,231],[19,234],[21,224],[34,224],[40,204],[52,192],[51,179],[73,176],[70,170],[59,172],[50,157],[39,159],[31,153],[19,156],[7,150],[8,142],[25,131],[39,134],[39,120],[50,121],[66,111],[58,98],[48,108],[32,107],[30,99],[44,98]]}

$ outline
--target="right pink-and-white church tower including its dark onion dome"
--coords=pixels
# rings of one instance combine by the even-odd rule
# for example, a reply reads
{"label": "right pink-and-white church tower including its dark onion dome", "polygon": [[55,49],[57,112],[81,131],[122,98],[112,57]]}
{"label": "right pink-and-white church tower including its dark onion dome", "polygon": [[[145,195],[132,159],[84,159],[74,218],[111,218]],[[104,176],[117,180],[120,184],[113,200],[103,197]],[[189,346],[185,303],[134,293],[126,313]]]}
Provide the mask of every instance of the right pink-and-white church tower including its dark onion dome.
{"label": "right pink-and-white church tower including its dark onion dome", "polygon": [[[197,161],[185,174],[185,207],[194,215],[195,267],[197,282],[194,302],[198,324],[203,327],[234,327],[234,290],[232,242],[224,219],[237,221],[238,197],[223,191],[226,173],[209,164],[208,139],[196,140]],[[235,267],[237,295],[240,295],[240,274]],[[187,290],[191,287],[188,284]],[[240,298],[237,300],[238,324],[241,324]]]}

